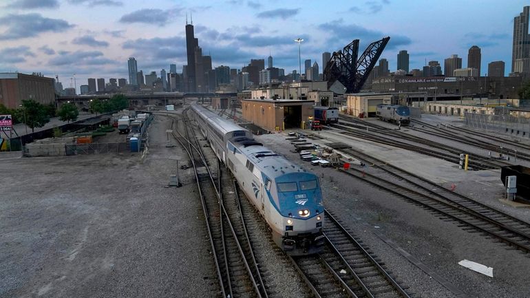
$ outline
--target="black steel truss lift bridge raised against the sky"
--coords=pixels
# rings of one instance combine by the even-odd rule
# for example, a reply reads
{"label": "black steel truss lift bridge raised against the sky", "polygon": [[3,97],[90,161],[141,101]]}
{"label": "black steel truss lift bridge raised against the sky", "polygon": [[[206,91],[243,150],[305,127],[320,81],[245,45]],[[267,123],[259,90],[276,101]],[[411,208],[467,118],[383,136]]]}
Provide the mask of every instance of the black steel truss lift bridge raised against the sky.
{"label": "black steel truss lift bridge raised against the sky", "polygon": [[359,39],[354,39],[339,52],[333,52],[324,70],[324,81],[328,89],[336,94],[358,93],[383,53],[390,37],[370,43],[360,57]]}

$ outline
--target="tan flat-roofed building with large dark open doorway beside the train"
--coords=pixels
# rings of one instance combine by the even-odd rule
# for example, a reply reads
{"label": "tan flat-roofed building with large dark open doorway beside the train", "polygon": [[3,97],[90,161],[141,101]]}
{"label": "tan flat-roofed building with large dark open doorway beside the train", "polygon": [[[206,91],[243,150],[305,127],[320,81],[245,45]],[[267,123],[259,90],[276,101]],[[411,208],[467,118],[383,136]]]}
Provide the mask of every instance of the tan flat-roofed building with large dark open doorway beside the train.
{"label": "tan flat-roofed building with large dark open doorway beside the train", "polygon": [[243,99],[243,119],[268,131],[302,128],[313,116],[314,104],[310,100]]}

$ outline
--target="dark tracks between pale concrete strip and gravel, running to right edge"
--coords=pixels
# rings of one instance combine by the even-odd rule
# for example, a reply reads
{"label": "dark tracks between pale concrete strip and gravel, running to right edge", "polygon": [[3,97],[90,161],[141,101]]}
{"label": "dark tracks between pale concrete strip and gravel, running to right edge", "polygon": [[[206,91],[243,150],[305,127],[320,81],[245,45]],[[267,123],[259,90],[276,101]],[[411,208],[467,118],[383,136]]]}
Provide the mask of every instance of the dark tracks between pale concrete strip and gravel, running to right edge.
{"label": "dark tracks between pale concrete strip and gravel, running to right edge", "polygon": [[350,168],[348,171],[343,170],[344,173],[413,202],[436,215],[440,215],[443,220],[465,224],[467,231],[472,228],[471,231],[480,231],[490,235],[524,253],[530,252],[530,224],[528,222],[476,202],[464,195],[447,191],[447,189],[418,175],[385,164],[381,160],[354,149],[344,149],[343,151],[383,171],[383,173],[372,174],[366,173],[362,169]]}

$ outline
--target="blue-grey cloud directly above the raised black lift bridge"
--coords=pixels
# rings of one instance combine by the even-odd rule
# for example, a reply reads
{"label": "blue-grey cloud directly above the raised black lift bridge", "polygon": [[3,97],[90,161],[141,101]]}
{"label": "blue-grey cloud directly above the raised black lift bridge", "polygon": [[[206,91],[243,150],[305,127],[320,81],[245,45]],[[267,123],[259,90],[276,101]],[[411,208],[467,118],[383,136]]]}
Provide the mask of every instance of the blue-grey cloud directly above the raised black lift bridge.
{"label": "blue-grey cloud directly above the raised black lift bridge", "polygon": [[[343,24],[343,19],[322,23],[318,25],[318,28],[326,32],[331,32],[332,34],[329,34],[329,41],[339,47],[343,47],[343,45],[346,45],[346,43],[349,43],[353,39],[360,39],[362,43],[368,45],[368,43],[372,43],[373,41],[377,41],[386,36],[383,32],[370,30],[360,25]],[[410,45],[410,43],[412,43],[412,41],[407,36],[392,35],[385,48],[394,49],[401,45]]]}

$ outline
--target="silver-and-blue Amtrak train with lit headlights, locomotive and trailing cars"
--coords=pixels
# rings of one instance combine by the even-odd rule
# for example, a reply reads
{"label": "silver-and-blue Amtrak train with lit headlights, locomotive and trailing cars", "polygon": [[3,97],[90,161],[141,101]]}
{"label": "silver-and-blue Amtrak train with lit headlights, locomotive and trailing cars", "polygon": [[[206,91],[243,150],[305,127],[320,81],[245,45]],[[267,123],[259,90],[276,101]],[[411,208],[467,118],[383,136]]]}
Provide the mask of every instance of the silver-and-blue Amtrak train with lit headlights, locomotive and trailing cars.
{"label": "silver-and-blue Amtrak train with lit headlights, locomotive and trailing cars", "polygon": [[317,175],[264,147],[251,131],[200,105],[191,109],[215,155],[271,227],[277,246],[290,255],[321,251],[324,205]]}

